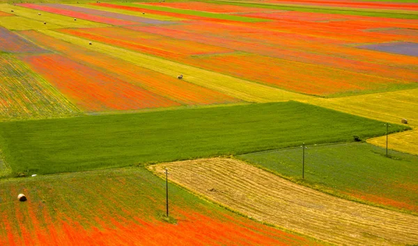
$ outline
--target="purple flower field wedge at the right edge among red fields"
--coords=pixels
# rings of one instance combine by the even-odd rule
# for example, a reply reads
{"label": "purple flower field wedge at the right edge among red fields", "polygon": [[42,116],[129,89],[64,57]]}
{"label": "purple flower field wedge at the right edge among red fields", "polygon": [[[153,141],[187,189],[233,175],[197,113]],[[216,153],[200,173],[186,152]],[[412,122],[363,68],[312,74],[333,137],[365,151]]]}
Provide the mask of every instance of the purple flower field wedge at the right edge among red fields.
{"label": "purple flower field wedge at the right edge among red fields", "polygon": [[406,56],[418,56],[418,43],[416,42],[388,42],[384,44],[370,44],[359,46],[361,49],[383,51]]}

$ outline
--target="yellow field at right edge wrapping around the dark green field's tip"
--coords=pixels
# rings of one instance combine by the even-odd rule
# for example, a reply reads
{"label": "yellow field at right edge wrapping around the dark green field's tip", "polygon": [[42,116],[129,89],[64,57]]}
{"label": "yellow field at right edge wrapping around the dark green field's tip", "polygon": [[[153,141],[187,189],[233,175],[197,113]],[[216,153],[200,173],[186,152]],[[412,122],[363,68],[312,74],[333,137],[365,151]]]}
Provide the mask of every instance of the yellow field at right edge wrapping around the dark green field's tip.
{"label": "yellow field at right edge wrapping around the dark green field's tip", "polygon": [[[417,98],[418,89],[413,89],[332,99],[314,99],[305,102],[393,124],[401,124],[401,120],[405,118],[408,120],[408,125],[414,130],[390,135],[388,147],[396,151],[418,154]],[[384,133],[386,128],[384,125],[381,127],[382,133]],[[385,136],[372,138],[367,142],[386,147]]]}

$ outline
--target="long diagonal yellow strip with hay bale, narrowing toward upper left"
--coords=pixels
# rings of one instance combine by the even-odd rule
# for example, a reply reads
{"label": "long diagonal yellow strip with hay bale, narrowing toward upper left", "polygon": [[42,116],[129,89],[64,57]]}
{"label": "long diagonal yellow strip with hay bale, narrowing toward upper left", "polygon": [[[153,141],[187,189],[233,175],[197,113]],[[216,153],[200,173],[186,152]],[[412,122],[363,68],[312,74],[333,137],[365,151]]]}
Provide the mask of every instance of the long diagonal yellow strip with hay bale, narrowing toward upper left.
{"label": "long diagonal yellow strip with hay bale, narrowing toward upper left", "polygon": [[58,33],[56,31],[44,30],[42,33],[50,35],[54,38],[65,40],[72,44],[86,47],[87,49],[92,49],[94,51],[107,54],[109,56],[127,60],[141,67],[145,67],[162,74],[167,74],[173,77],[176,77],[179,74],[183,74],[184,81],[194,83],[211,90],[217,90],[243,101],[268,102],[297,99],[306,100],[311,98],[306,95],[300,95],[293,92],[287,92],[285,90],[279,90],[277,88],[271,88],[267,85],[252,83],[235,78],[233,76],[210,72],[205,69],[184,65],[181,63],[175,63],[171,60],[165,60],[155,56],[148,56],[127,49],[113,47],[107,44],[101,44],[99,42],[95,42],[93,45],[88,45],[88,40],[83,38],[76,38],[72,35]]}

